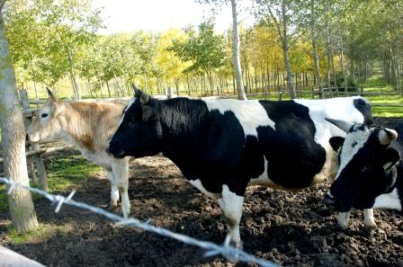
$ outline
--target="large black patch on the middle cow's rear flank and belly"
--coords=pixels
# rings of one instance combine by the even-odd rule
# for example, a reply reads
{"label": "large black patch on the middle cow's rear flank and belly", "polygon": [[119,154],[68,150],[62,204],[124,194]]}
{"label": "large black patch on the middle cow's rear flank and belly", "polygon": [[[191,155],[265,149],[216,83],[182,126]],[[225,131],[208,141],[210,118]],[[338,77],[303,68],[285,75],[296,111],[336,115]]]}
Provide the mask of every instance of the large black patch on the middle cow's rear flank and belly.
{"label": "large black patch on the middle cow's rear flank and belly", "polygon": [[269,178],[284,188],[308,187],[326,161],[326,151],[315,142],[309,109],[297,102],[261,101],[275,123],[257,129],[268,161]]}

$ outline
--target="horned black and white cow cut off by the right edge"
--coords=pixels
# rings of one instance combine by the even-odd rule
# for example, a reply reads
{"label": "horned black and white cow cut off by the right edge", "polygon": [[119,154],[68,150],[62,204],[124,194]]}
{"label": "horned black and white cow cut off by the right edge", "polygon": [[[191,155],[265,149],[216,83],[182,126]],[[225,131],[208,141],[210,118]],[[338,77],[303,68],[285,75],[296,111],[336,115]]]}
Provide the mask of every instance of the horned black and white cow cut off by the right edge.
{"label": "horned black and white cow cut off by the right edge", "polygon": [[347,227],[350,210],[354,208],[364,210],[364,226],[371,229],[376,226],[373,208],[402,210],[403,125],[387,129],[327,120],[347,133],[327,200],[336,204],[340,227]]}

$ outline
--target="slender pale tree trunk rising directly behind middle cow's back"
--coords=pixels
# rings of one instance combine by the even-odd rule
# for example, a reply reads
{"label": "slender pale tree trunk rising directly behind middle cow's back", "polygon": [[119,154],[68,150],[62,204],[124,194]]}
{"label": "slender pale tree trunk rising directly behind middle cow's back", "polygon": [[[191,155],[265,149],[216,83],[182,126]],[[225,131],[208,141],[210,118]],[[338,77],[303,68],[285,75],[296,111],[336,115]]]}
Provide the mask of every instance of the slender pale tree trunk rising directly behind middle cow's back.
{"label": "slender pale tree trunk rising directly behind middle cow's back", "polygon": [[237,83],[237,99],[246,100],[246,93],[244,89],[244,83],[242,81],[242,69],[241,69],[241,56],[239,52],[240,40],[239,32],[237,31],[237,0],[231,0],[232,7],[232,30],[234,31],[234,39],[232,43],[232,58],[234,60],[234,72],[235,80]]}

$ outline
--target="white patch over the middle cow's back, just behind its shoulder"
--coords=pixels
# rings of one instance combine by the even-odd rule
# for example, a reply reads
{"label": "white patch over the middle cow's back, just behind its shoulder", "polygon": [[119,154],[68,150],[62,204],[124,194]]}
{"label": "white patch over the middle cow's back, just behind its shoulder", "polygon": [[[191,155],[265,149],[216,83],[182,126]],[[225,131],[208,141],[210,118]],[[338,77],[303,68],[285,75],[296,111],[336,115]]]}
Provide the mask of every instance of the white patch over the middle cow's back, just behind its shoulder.
{"label": "white patch over the middle cow's back, just behind its shoulder", "polygon": [[257,138],[257,127],[270,126],[275,129],[275,123],[269,118],[264,107],[257,100],[237,101],[232,99],[205,101],[209,111],[218,110],[221,114],[232,111],[244,129],[245,136]]}

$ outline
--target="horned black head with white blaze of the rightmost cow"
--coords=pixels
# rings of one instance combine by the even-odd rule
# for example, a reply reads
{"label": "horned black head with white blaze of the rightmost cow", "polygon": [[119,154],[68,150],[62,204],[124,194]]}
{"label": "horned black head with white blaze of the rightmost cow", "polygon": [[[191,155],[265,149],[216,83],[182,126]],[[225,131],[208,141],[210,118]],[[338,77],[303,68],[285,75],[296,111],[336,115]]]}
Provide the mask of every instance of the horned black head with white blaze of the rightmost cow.
{"label": "horned black head with white blaze of the rightmost cow", "polygon": [[371,209],[397,177],[399,152],[390,146],[398,138],[394,129],[327,119],[347,133],[339,153],[339,170],[330,193],[341,212]]}

